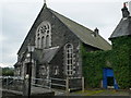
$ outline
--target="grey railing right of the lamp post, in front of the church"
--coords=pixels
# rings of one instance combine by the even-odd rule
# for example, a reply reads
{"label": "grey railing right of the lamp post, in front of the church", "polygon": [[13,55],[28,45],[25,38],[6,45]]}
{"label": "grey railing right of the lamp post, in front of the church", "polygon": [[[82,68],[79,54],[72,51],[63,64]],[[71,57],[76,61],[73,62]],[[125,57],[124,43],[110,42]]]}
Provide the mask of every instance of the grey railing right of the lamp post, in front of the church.
{"label": "grey railing right of the lamp post, in front of the church", "polygon": [[[76,79],[80,81],[80,84],[75,84]],[[58,88],[63,88],[67,91],[74,90],[74,89],[83,89],[84,90],[84,78],[83,77],[33,78],[32,85],[37,86],[37,87],[49,88],[49,89],[58,87]]]}

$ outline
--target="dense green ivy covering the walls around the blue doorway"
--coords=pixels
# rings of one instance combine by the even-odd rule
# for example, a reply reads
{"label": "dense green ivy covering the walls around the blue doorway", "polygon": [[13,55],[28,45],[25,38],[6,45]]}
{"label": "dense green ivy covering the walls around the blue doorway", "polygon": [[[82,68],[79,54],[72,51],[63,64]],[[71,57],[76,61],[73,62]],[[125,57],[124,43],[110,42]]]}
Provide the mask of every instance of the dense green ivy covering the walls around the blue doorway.
{"label": "dense green ivy covering the walls around the blue doorway", "polygon": [[103,69],[112,68],[120,88],[131,87],[131,37],[112,39],[112,50],[87,52],[82,46],[86,87],[100,87]]}

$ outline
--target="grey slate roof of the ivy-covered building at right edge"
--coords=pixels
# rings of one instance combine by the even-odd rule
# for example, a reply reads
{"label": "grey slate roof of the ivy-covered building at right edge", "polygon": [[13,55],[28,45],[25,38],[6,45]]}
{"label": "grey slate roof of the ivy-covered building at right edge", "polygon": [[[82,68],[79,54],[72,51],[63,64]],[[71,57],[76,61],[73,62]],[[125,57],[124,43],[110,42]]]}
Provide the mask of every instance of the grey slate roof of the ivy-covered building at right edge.
{"label": "grey slate roof of the ivy-covered building at right edge", "polygon": [[120,21],[109,39],[129,35],[131,35],[131,16]]}

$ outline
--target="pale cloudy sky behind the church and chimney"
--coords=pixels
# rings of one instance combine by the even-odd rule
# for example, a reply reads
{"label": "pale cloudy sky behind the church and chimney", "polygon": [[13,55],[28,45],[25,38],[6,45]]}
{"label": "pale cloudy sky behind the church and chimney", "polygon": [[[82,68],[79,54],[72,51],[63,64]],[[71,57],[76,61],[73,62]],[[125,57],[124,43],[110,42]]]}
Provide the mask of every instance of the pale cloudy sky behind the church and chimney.
{"label": "pale cloudy sky behind the church and chimney", "polygon": [[[122,17],[121,8],[126,1],[46,0],[46,3],[48,8],[92,30],[97,27],[109,41]],[[44,0],[0,0],[0,66],[16,63],[16,53],[43,5]]]}

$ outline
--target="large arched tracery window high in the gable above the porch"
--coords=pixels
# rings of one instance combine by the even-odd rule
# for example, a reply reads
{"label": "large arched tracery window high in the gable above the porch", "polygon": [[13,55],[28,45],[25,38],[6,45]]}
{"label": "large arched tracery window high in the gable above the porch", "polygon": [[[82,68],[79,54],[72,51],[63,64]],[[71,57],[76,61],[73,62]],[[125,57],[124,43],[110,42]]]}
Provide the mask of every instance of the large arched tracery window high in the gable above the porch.
{"label": "large arched tracery window high in the gable above the porch", "polygon": [[51,46],[51,25],[49,22],[43,22],[40,23],[36,30],[36,48],[49,48],[50,46]]}

